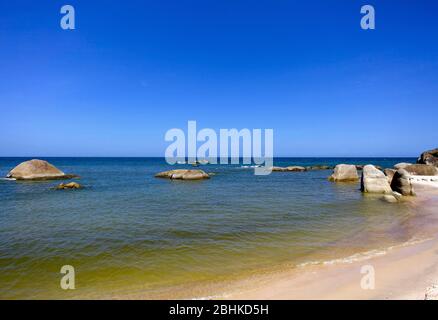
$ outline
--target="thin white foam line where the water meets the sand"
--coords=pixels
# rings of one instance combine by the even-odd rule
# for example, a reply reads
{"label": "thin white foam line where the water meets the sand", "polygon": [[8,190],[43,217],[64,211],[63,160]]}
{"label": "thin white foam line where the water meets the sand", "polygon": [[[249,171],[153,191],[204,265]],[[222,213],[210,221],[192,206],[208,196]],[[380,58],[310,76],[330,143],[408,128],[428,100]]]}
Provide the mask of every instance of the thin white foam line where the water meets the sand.
{"label": "thin white foam line where the water meets the sand", "polygon": [[426,239],[413,238],[413,239],[408,240],[402,244],[390,246],[386,249],[373,249],[373,250],[369,250],[369,251],[365,251],[365,252],[358,252],[358,253],[355,253],[355,254],[348,256],[348,257],[345,257],[345,258],[338,258],[338,259],[332,259],[332,260],[322,260],[322,261],[319,261],[319,260],[308,261],[308,262],[300,263],[300,264],[296,265],[296,267],[303,268],[306,266],[313,266],[313,265],[333,265],[333,264],[354,263],[354,262],[358,262],[358,261],[364,261],[364,260],[368,260],[368,259],[375,258],[378,256],[383,256],[393,249],[403,248],[403,247],[407,247],[407,246],[411,246],[411,245],[415,245],[415,244],[420,244],[420,243],[423,243],[423,242],[426,242],[426,241],[429,241],[432,239],[433,238],[426,238]]}

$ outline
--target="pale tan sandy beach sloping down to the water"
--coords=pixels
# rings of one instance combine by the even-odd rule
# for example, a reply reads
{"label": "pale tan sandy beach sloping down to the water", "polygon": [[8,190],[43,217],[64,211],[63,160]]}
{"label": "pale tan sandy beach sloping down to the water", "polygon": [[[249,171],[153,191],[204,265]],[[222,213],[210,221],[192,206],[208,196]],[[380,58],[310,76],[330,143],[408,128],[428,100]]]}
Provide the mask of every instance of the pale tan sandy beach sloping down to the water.
{"label": "pale tan sandy beach sloping down to the water", "polygon": [[[412,204],[418,213],[438,214],[436,193],[422,195]],[[436,228],[428,225],[426,228]],[[432,230],[430,230],[432,231]],[[374,289],[363,289],[362,268],[374,269]],[[365,268],[366,268],[365,267]],[[401,244],[370,254],[308,265],[254,281],[226,299],[437,299],[438,238]]]}

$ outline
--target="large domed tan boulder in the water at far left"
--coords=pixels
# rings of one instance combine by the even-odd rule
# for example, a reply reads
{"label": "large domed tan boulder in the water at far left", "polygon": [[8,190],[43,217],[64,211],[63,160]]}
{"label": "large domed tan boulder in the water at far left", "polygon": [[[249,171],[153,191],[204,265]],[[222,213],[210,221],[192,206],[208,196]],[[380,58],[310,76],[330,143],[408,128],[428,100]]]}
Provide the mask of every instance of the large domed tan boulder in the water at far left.
{"label": "large domed tan boulder in the water at far left", "polygon": [[56,180],[71,179],[77,177],[72,174],[65,174],[47,161],[33,159],[20,163],[12,169],[6,178],[16,180]]}

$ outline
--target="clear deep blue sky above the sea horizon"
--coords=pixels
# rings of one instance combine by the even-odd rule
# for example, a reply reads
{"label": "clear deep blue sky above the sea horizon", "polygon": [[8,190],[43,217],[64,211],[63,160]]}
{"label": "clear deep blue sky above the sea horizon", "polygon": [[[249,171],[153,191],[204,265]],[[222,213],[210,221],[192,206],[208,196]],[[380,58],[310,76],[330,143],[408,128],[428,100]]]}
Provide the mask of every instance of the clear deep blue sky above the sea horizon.
{"label": "clear deep blue sky above the sea horizon", "polygon": [[188,120],[273,128],[276,156],[417,156],[438,146],[437,17],[427,0],[1,1],[0,156],[164,156]]}

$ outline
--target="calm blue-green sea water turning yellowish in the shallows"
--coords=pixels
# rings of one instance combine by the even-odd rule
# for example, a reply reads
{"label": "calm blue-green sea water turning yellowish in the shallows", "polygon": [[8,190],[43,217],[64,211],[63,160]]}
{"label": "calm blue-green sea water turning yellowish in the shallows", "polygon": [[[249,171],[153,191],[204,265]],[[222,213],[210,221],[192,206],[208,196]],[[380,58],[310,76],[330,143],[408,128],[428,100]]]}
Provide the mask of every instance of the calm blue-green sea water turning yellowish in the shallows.
{"label": "calm blue-green sea water turning yellowish in the shallows", "polygon": [[[44,158],[43,158],[44,159]],[[0,158],[0,176],[28,158]],[[330,170],[255,176],[241,165],[205,165],[209,180],[154,174],[161,158],[45,158],[60,181],[0,180],[0,298],[146,298],[215,294],[213,284],[403,243],[417,236],[407,204],[364,196]],[[280,158],[274,164],[368,164],[413,158]],[[76,289],[60,289],[72,265]]]}

